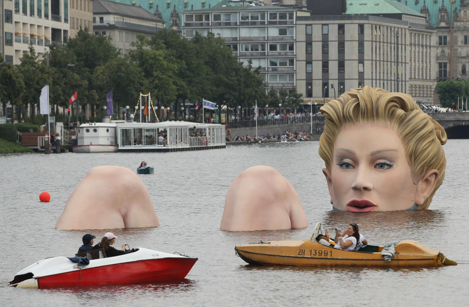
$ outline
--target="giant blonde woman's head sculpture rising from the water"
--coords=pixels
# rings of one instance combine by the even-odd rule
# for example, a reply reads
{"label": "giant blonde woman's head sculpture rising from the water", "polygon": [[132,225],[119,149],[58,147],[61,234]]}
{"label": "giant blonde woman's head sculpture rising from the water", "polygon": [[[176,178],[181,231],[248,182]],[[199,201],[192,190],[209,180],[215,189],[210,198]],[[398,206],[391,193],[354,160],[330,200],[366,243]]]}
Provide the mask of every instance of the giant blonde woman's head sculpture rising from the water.
{"label": "giant blonde woman's head sculpture rising from the water", "polygon": [[354,88],[320,109],[331,203],[338,210],[427,209],[445,177],[445,130],[413,98]]}

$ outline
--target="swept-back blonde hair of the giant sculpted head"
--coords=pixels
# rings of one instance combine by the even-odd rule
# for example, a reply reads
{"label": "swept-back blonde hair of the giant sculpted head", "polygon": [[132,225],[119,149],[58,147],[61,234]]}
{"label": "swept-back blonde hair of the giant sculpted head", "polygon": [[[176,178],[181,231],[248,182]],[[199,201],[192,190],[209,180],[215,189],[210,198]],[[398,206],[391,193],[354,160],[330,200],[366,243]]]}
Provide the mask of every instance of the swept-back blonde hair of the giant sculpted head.
{"label": "swept-back blonde hair of the giant sculpted head", "polygon": [[404,93],[390,93],[383,88],[352,88],[337,100],[320,109],[324,115],[324,132],[320,137],[319,155],[331,171],[334,143],[344,126],[377,123],[394,128],[401,139],[411,167],[413,181],[418,182],[428,170],[439,172],[435,188],[418,209],[427,209],[445,178],[446,157],[443,144],[446,132]]}

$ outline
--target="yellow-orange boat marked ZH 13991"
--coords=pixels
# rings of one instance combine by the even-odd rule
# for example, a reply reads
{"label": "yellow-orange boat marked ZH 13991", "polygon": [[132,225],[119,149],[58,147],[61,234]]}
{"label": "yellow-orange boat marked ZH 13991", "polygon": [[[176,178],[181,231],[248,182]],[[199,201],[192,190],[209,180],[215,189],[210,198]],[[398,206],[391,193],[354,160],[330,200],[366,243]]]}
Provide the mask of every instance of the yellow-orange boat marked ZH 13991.
{"label": "yellow-orange boat marked ZH 13991", "polygon": [[245,262],[263,265],[432,267],[457,264],[439,250],[432,250],[417,241],[390,244],[394,253],[383,257],[384,246],[366,245],[356,251],[341,250],[316,241],[322,236],[319,232],[320,223],[311,239],[306,241],[260,241],[236,246],[235,251]]}

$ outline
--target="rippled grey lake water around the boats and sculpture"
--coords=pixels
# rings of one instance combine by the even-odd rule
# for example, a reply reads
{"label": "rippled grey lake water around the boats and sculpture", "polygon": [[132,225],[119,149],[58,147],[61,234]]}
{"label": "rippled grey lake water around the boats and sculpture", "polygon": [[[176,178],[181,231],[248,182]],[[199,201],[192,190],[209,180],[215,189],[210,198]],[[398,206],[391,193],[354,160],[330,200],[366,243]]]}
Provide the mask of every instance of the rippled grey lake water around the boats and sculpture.
{"label": "rippled grey lake water around the boats and sculpture", "polygon": [[[0,156],[1,306],[460,306],[467,304],[469,256],[469,140],[444,146],[448,166],[431,210],[376,213],[332,211],[322,175],[319,142],[228,146],[176,153],[21,154]],[[93,167],[135,170],[148,161],[154,175],[139,175],[161,226],[116,229],[117,245],[180,252],[199,258],[177,282],[58,289],[5,286],[40,259],[72,256],[85,231],[55,230],[75,186]],[[225,195],[236,175],[269,165],[296,189],[308,219],[297,230],[227,232],[219,229]],[[41,203],[47,191],[50,203]],[[316,222],[332,231],[350,222],[371,244],[402,239],[440,249],[457,266],[439,268],[316,268],[249,266],[235,245],[306,240]],[[323,227],[324,228],[324,227]],[[101,238],[106,230],[92,231]],[[329,293],[327,292],[329,291]]]}

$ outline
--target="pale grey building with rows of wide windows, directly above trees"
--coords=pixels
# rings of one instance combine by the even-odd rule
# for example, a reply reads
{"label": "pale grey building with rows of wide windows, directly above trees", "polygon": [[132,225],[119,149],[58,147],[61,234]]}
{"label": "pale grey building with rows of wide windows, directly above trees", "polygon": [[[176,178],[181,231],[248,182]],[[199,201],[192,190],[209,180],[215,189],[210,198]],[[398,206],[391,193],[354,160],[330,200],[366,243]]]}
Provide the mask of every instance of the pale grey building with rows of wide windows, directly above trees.
{"label": "pale grey building with rows of wide windows, directly above trees", "polygon": [[266,90],[296,86],[296,19],[298,12],[278,6],[221,6],[184,11],[182,32],[219,35],[233,54],[248,66],[259,67]]}

